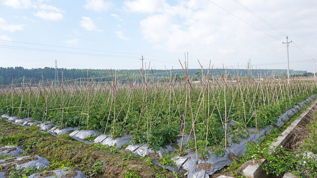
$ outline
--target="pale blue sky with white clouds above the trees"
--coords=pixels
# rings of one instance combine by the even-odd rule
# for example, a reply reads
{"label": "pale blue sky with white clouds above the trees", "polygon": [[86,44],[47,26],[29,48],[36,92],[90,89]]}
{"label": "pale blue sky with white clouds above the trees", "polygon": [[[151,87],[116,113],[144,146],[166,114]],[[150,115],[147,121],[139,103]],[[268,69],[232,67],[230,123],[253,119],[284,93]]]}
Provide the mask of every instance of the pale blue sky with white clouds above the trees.
{"label": "pale blue sky with white clouds above the trees", "polygon": [[0,67],[314,71],[316,0],[0,0]]}

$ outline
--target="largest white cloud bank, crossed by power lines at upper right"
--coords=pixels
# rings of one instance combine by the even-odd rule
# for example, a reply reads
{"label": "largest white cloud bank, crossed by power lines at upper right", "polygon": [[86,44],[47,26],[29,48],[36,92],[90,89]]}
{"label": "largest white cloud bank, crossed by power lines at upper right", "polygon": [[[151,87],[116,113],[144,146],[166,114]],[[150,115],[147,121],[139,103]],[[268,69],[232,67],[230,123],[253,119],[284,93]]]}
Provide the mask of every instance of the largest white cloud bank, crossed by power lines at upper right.
{"label": "largest white cloud bank, crossed by power lines at upper right", "polygon": [[[151,5],[148,10],[144,9],[147,2],[143,0],[131,1],[125,2],[127,10],[153,13],[140,20],[140,31],[143,39],[155,48],[176,53],[188,51],[192,58],[208,62],[212,59],[213,64],[221,67],[222,63],[237,65],[249,58],[254,60],[253,64],[273,63],[285,58],[285,45],[281,43],[285,42],[285,37],[230,0],[217,0],[217,4],[278,40],[247,25],[207,0],[178,0],[173,3],[167,1],[169,4],[166,2],[157,6],[158,10],[151,8]],[[305,0],[307,3],[300,3],[290,0],[285,8],[293,9],[295,13],[282,8],[284,0],[241,2],[292,37],[290,40],[295,42],[297,39],[297,45],[308,55],[316,55],[317,50],[309,46],[317,43],[312,40],[316,36],[317,19],[310,15],[317,10],[317,2]],[[301,28],[298,28],[299,24]],[[296,53],[305,57],[294,45],[290,45],[290,48],[292,47]],[[299,55],[292,55],[292,60],[303,60]]]}

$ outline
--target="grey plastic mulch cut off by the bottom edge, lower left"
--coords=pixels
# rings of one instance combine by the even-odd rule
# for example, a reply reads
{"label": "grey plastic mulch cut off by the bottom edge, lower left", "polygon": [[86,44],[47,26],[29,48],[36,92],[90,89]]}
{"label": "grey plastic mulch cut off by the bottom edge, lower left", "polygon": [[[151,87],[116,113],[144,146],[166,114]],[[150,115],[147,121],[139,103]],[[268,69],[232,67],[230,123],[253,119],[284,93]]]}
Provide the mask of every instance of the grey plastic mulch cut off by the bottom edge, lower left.
{"label": "grey plastic mulch cut off by the bottom edge, lower left", "polygon": [[[45,177],[45,175],[47,175],[47,177]],[[45,174],[36,173],[29,176],[28,178],[61,178],[63,176],[66,176],[67,178],[87,178],[87,176],[83,172],[73,170],[71,168],[48,171]]]}

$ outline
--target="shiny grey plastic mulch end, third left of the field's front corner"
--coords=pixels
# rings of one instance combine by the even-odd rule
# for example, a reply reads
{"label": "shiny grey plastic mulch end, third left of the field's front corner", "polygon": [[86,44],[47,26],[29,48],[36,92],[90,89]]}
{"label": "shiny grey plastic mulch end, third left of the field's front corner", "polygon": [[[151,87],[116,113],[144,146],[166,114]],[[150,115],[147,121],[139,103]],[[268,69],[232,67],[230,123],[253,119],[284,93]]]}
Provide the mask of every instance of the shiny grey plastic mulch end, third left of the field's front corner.
{"label": "shiny grey plastic mulch end, third left of the field's front corner", "polygon": [[94,142],[95,143],[100,143],[102,145],[109,145],[109,146],[118,146],[118,147],[122,147],[122,145],[124,143],[129,144],[130,140],[132,138],[132,135],[127,134],[127,135],[123,135],[123,136],[119,136],[115,139],[112,139],[111,135],[104,135],[101,134],[100,136],[98,136]]}

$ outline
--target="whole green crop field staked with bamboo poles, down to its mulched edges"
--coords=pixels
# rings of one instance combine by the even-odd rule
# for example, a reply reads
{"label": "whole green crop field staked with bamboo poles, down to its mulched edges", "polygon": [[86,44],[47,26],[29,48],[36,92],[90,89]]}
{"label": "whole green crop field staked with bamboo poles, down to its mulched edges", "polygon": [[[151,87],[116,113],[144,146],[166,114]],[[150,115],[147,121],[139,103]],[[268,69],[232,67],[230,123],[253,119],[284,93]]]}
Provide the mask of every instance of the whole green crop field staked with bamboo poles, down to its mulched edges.
{"label": "whole green crop field staked with bamboo poles, down to its mulched edges", "polygon": [[[111,148],[134,152],[141,147],[150,152],[139,155],[158,158],[163,165],[177,167],[190,159],[188,165],[196,162],[198,168],[213,156],[226,157],[233,144],[251,134],[264,136],[268,126],[278,128],[280,115],[317,92],[314,79],[308,77],[291,81],[265,75],[211,77],[209,70],[194,81],[185,69],[184,80],[170,71],[169,80],[158,82],[150,72],[140,72],[142,82],[127,76],[129,82],[121,83],[114,72],[106,83],[87,78],[36,87],[27,82],[7,86],[0,89],[0,113],[52,122],[60,130],[97,131],[113,140],[131,135],[129,141]],[[84,139],[96,141],[97,136]],[[170,149],[162,152],[165,148]],[[203,170],[213,174],[223,167],[213,164],[213,170]],[[199,172],[196,167],[184,169],[194,175]]]}

